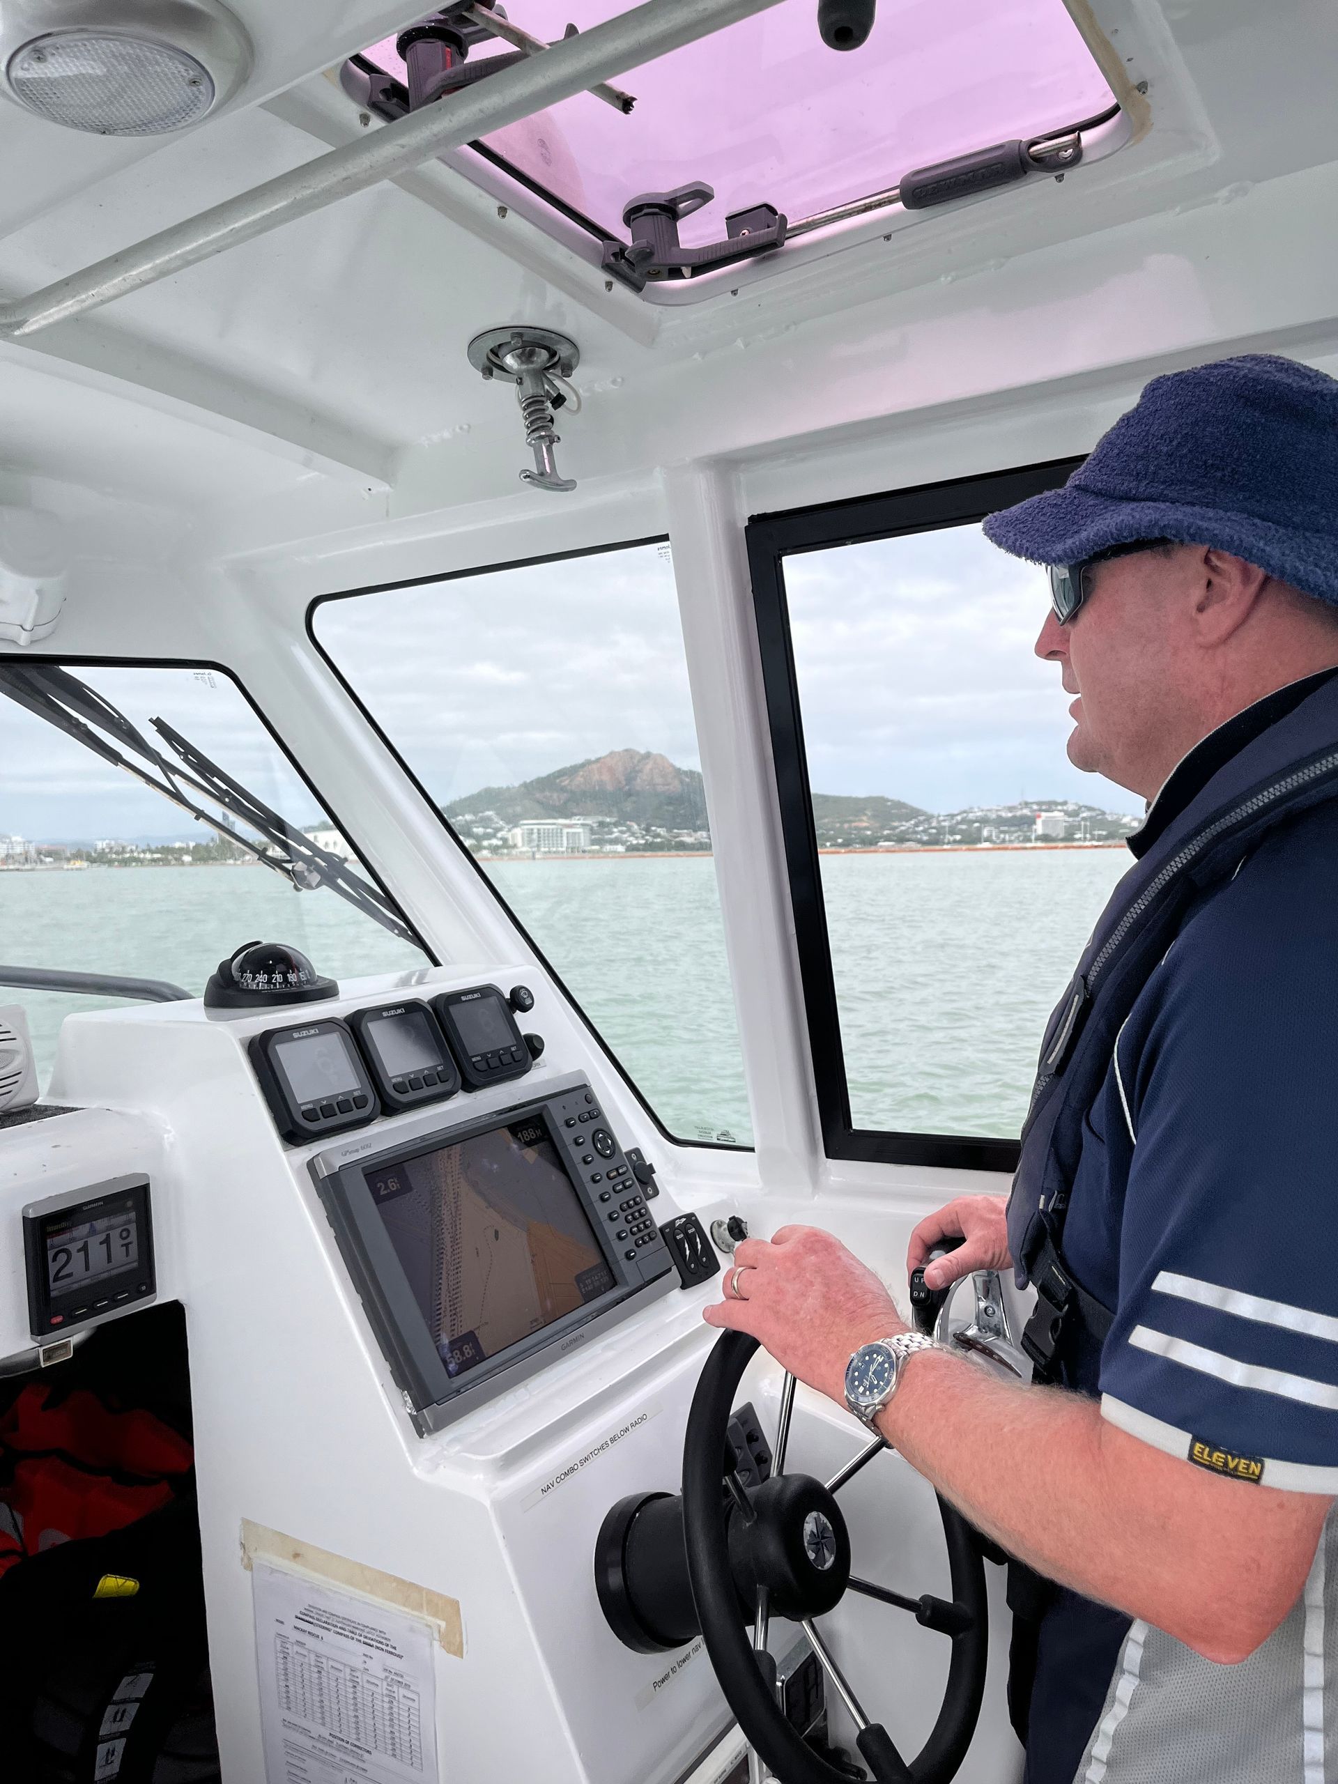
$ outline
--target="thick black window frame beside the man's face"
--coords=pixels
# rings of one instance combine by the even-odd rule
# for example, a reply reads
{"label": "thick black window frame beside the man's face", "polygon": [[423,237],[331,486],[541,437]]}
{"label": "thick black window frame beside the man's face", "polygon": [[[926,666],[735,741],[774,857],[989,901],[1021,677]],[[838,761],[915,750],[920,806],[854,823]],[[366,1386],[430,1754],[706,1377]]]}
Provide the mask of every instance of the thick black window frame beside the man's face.
{"label": "thick black window frame beside the man's face", "polygon": [[[790,885],[790,910],[799,954],[799,981],[808,1022],[822,1149],[831,1160],[1013,1172],[1020,1142],[988,1135],[903,1133],[853,1124],[783,560],[833,546],[867,544],[878,539],[978,524],[995,508],[1006,508],[1028,496],[1060,487],[1079,464],[1083,464],[1081,457],[1053,458],[1042,464],[940,483],[919,483],[910,489],[856,496],[810,508],[755,514],[747,521],[744,539],[753,583],[753,617],[762,658],[785,872]],[[1040,1037],[1037,1037],[1037,1045],[1040,1045]]]}

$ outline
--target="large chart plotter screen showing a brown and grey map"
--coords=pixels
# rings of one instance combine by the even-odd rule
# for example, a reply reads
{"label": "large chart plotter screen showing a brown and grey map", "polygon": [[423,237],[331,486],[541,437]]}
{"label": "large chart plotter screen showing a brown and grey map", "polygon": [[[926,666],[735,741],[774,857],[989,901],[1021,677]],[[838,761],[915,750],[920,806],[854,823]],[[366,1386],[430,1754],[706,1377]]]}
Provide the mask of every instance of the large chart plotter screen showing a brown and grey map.
{"label": "large chart plotter screen showing a brown and grey map", "polygon": [[448,1375],[615,1286],[537,1117],[366,1179]]}

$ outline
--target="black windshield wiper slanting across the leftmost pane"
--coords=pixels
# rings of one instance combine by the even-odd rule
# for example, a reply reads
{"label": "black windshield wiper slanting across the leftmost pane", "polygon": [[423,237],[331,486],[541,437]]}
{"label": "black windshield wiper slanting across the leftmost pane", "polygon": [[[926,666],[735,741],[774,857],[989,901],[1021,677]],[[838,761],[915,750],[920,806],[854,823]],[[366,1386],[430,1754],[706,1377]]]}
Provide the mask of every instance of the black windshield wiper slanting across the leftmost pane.
{"label": "black windshield wiper slanting across the leftmost pane", "polygon": [[[166,719],[152,719],[150,723],[162,742],[180,758],[178,762],[162,755],[109,699],[55,664],[0,660],[0,694],[7,694],[9,699],[54,724],[66,737],[73,737],[103,762],[125,769],[145,787],[152,787],[182,812],[189,812],[198,822],[209,824],[227,842],[246,849],[257,862],[298,887],[300,892],[330,887],[332,892],[337,892],[364,915],[373,917],[391,935],[398,935],[416,947],[423,946],[378,887],[369,885],[362,874],[353,872],[348,862],[312,842],[301,830],[294,830],[278,812],[271,812],[262,799],[232,780],[189,739],[173,730]],[[134,760],[134,756],[141,760]],[[262,840],[255,842],[235,830],[227,817],[205,810],[198,803],[200,797],[212,799],[228,817],[246,824]]]}

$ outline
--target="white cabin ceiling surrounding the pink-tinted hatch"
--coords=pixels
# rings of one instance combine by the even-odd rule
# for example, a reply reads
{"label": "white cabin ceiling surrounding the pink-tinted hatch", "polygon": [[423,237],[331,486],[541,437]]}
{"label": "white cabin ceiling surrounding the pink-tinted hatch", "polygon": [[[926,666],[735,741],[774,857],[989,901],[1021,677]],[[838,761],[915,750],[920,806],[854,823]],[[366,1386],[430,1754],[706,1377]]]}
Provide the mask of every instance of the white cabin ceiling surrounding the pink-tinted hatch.
{"label": "white cabin ceiling surrounding the pink-tinted hatch", "polygon": [[[814,0],[785,5],[812,9]],[[9,175],[0,189],[2,294],[34,291],[357,137],[366,128],[359,109],[328,71],[414,16],[412,7],[357,0],[234,0],[234,11],[253,39],[255,66],[243,91],[194,130],[84,136],[0,102]],[[510,11],[521,18],[521,0]],[[1074,11],[1086,7],[1076,0]],[[1151,257],[1174,255],[1183,230],[1193,239],[1186,260],[1197,262],[1186,301],[1202,309],[1204,337],[1249,334],[1256,294],[1254,326],[1268,326],[1276,266],[1258,269],[1258,293],[1236,289],[1218,305],[1204,232],[1240,239],[1235,225],[1249,205],[1249,230],[1258,230],[1270,191],[1281,193],[1299,169],[1338,162],[1338,14],[1322,0],[1095,0],[1094,14],[1129,78],[1149,82],[1151,128],[1065,186],[1028,182],[921,214],[913,228],[903,218],[890,241],[871,227],[837,260],[765,277],[753,269],[740,273],[737,296],[719,285],[705,301],[657,307],[607,291],[598,268],[514,211],[500,216],[496,196],[434,162],[78,321],[0,344],[0,478],[11,500],[27,480],[32,500],[41,487],[43,505],[64,487],[71,508],[75,492],[95,492],[177,523],[264,510],[271,530],[294,532],[310,524],[312,492],[323,524],[332,516],[357,524],[369,498],[384,512],[519,500],[514,403],[464,357],[475,332],[501,321],[542,323],[580,341],[578,384],[589,400],[564,451],[585,457],[582,475],[692,455],[694,430],[703,453],[797,439],[862,419],[851,394],[871,384],[862,355],[894,368],[904,351],[899,330],[937,326],[947,362],[954,309],[963,330],[981,307],[997,310],[995,296],[1019,310],[1029,259],[1038,305],[1053,298],[1047,264],[1063,268],[1060,284],[1069,278],[1081,301],[1076,244],[1094,237],[1115,266],[1124,244],[1127,289],[1136,291]],[[817,37],[814,45],[830,54]],[[1324,200],[1333,187],[1318,182],[1315,193]],[[1290,216],[1283,207],[1281,223]],[[1301,216],[1288,227],[1304,259],[1311,243]],[[1331,237],[1331,211],[1317,214],[1315,252],[1327,253]],[[969,300],[954,289],[963,282],[965,291],[972,275],[979,285],[981,273],[995,284]],[[1174,280],[1149,284],[1149,301],[1176,289]],[[1326,316],[1334,310],[1329,298]],[[737,409],[712,416],[721,366],[737,369],[740,346],[756,355],[758,376],[769,368],[751,426]],[[1095,362],[1115,346],[1101,339],[1092,350]],[[890,401],[880,409],[872,382],[865,414],[887,414]],[[285,512],[291,523],[280,519]]]}

